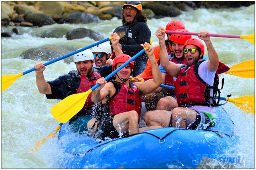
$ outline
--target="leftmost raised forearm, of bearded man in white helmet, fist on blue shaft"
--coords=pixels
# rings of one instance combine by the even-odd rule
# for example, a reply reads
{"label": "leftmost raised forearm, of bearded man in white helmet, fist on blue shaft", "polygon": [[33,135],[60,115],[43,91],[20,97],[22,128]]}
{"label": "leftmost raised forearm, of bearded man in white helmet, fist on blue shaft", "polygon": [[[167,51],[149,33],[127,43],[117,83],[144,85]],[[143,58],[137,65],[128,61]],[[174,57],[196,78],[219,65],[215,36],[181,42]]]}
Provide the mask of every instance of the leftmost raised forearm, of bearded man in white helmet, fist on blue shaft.
{"label": "leftmost raised forearm, of bearded man in white helmet, fist on blue shaft", "polygon": [[51,95],[52,90],[50,84],[46,82],[43,74],[46,67],[43,65],[43,63],[37,63],[34,65],[34,68],[36,69],[36,83],[39,93]]}

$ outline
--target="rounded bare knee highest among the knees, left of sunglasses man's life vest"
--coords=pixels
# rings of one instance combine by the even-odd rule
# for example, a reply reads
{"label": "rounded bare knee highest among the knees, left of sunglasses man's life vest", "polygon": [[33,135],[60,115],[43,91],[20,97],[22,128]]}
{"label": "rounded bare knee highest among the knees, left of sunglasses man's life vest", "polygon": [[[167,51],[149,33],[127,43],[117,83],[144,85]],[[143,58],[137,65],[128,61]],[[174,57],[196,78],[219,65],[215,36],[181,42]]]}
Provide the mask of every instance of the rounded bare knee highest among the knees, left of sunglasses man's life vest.
{"label": "rounded bare knee highest among the knees, left of sunglasses man's life vest", "polygon": [[172,109],[178,107],[178,103],[175,98],[166,96],[158,101],[156,110],[172,111]]}

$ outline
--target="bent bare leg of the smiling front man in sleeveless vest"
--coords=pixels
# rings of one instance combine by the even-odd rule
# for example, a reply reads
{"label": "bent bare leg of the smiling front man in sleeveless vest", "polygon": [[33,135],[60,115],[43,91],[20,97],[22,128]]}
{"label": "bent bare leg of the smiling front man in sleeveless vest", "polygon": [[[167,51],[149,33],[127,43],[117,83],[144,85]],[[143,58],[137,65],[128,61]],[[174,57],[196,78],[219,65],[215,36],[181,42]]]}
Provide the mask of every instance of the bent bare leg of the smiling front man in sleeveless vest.
{"label": "bent bare leg of the smiling front man in sleeveless vest", "polygon": [[114,116],[113,125],[119,132],[129,131],[129,135],[139,133],[139,116],[136,111],[120,113]]}

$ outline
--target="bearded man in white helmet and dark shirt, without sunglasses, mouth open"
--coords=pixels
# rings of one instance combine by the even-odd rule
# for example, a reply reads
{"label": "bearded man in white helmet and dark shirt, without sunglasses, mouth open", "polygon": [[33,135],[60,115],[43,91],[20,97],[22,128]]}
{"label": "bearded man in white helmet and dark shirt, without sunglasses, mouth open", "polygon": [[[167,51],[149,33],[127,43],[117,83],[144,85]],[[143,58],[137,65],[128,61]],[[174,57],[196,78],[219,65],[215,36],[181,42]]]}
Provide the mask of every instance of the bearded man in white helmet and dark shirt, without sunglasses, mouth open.
{"label": "bearded man in white helmet and dark shirt, without sunglasses, mouth open", "polygon": [[[113,33],[113,39],[111,40],[113,48],[117,53],[122,52],[117,45],[119,36]],[[94,55],[90,49],[81,51],[74,56],[74,63],[77,70],[70,71],[68,74],[61,75],[55,80],[46,81],[44,79],[43,71],[46,67],[43,63],[34,65],[36,69],[36,83],[38,91],[45,94],[50,99],[61,99],[73,95],[76,93],[82,93],[96,84],[97,79],[101,78],[101,75],[94,71]],[[87,122],[94,117],[94,105],[91,101],[91,94],[87,97],[84,107],[69,120],[69,125],[74,132],[87,131]]]}

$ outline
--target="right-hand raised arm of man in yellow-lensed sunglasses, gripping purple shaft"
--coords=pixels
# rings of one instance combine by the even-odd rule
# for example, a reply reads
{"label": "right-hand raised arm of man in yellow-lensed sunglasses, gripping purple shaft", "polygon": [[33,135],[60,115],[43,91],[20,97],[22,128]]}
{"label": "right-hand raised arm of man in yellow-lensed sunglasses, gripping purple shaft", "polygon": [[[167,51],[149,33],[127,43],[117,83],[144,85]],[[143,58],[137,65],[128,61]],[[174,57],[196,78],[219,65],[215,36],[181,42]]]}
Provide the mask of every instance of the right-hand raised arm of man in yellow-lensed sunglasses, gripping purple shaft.
{"label": "right-hand raised arm of man in yellow-lensed sunglasses, gripping purple shaft", "polygon": [[219,57],[217,52],[215,51],[213,45],[212,45],[212,41],[210,40],[210,36],[206,36],[209,32],[204,30],[201,31],[198,34],[198,38],[200,38],[201,40],[204,40],[206,47],[207,47],[207,51],[208,51],[208,57],[209,57],[209,61],[207,63],[208,68],[210,70],[210,72],[214,72],[218,69],[219,66]]}

